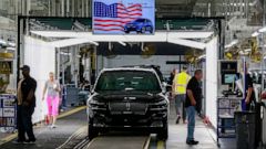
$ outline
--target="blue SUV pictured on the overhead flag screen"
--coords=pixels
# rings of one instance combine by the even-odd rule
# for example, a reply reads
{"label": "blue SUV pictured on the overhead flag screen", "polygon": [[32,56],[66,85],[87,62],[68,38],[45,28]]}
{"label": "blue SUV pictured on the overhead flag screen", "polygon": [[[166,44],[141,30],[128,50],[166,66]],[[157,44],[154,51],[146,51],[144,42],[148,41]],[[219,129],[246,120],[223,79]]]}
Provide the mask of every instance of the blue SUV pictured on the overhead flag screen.
{"label": "blue SUV pictured on the overhead flag screen", "polygon": [[153,23],[149,19],[136,19],[130,23],[126,23],[124,26],[124,32],[130,33],[135,31],[137,33],[153,33]]}

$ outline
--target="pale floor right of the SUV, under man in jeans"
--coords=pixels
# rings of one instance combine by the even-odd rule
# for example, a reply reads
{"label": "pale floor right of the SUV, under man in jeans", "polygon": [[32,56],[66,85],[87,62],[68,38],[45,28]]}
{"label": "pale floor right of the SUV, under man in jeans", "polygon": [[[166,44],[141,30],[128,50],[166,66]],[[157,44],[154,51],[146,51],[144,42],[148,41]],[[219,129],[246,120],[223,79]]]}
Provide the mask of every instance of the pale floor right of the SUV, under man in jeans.
{"label": "pale floor right of the SUV, under man in jeans", "polygon": [[[196,118],[195,139],[200,141],[197,146],[191,147],[186,145],[187,125],[183,123],[175,124],[176,115],[173,100],[171,100],[170,116],[170,136],[165,142],[166,149],[218,149],[216,142],[216,132],[203,124],[200,117]],[[235,149],[235,139],[221,140],[221,149]]]}

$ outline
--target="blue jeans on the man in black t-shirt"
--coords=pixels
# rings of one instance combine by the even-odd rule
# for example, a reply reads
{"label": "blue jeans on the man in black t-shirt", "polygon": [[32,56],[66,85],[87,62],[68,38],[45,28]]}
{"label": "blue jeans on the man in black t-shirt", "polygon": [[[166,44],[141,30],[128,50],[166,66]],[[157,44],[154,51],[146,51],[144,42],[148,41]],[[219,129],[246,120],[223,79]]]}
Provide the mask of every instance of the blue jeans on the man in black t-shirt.
{"label": "blue jeans on the man in black t-shirt", "polygon": [[196,109],[194,106],[190,106],[186,108],[187,114],[187,138],[186,140],[194,140],[194,130],[195,130],[195,114]]}

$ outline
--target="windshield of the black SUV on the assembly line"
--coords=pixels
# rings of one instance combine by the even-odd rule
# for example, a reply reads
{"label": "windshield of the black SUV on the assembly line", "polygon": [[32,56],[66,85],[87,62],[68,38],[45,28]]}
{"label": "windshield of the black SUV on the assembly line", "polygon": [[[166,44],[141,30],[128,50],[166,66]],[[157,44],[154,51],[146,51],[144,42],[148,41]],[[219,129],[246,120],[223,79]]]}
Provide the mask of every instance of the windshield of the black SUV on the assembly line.
{"label": "windshield of the black SUV on the assembly line", "polygon": [[161,92],[155,74],[143,71],[114,71],[103,73],[95,86],[96,92]]}

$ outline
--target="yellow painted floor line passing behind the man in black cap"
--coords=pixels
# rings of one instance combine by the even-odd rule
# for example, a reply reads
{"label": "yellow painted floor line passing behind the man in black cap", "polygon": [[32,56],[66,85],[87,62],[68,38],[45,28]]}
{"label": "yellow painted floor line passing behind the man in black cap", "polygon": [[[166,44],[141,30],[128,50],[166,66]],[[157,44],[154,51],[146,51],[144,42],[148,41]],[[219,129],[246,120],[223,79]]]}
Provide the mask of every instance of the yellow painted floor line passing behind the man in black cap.
{"label": "yellow painted floor line passing behind the man in black cap", "polygon": [[[82,106],[82,107],[78,107],[78,108],[71,109],[69,111],[63,113],[62,115],[59,115],[58,118],[63,118],[63,117],[73,115],[73,114],[75,114],[75,113],[78,113],[80,110],[83,110],[85,108],[86,108],[86,106]],[[38,128],[38,127],[34,127],[34,128]],[[16,139],[17,136],[18,136],[18,132],[14,132],[12,135],[9,135],[8,137],[4,137],[4,138],[0,139],[0,146],[6,143],[6,142],[9,142],[9,141]]]}

